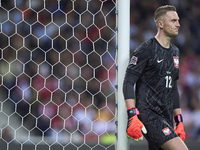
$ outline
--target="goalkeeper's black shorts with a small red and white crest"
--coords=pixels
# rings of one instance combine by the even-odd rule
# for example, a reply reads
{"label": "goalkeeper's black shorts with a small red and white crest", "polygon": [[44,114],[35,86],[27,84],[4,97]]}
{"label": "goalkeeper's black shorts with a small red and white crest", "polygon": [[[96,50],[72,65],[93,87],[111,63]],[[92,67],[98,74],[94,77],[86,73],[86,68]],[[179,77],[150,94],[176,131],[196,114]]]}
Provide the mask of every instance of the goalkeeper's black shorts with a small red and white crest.
{"label": "goalkeeper's black shorts with a small red and white crest", "polygon": [[173,127],[161,117],[144,122],[144,125],[147,129],[147,134],[144,134],[144,136],[148,141],[150,150],[160,150],[161,145],[178,136]]}

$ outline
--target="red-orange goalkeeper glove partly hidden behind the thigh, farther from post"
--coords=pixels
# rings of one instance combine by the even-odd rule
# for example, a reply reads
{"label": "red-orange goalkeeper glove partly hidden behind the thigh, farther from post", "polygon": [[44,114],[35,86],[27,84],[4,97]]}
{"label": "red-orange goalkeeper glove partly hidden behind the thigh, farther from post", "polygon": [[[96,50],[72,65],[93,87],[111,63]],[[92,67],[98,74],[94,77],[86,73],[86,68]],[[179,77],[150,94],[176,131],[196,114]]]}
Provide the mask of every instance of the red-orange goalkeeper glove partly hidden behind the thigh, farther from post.
{"label": "red-orange goalkeeper glove partly hidden behind the thigh, farther from post", "polygon": [[185,140],[185,131],[183,127],[183,118],[181,114],[174,116],[174,121],[176,123],[175,132],[179,135],[179,137],[184,141]]}

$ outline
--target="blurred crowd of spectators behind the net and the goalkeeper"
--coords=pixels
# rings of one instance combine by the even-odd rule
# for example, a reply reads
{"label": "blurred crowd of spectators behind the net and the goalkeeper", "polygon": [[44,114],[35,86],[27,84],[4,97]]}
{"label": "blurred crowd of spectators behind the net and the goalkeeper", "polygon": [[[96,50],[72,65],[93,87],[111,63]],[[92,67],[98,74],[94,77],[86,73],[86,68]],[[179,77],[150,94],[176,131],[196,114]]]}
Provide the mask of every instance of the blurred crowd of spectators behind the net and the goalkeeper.
{"label": "blurred crowd of spectators behind the net and the goalkeeper", "polygon": [[[176,6],[186,139],[200,140],[200,1],[130,1],[130,51],[155,35],[157,7]],[[115,132],[115,9],[114,0],[1,1],[1,102],[31,135]]]}

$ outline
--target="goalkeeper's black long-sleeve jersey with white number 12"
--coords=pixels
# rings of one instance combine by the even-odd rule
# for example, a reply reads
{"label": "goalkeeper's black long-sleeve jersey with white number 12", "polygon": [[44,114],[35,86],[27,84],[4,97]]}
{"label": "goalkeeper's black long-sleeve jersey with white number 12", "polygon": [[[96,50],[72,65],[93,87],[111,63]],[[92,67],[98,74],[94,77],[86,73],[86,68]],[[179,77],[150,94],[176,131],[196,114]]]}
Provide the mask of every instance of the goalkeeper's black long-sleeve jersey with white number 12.
{"label": "goalkeeper's black long-sleeve jersey with white number 12", "polygon": [[[179,103],[179,49],[162,47],[155,38],[143,42],[132,54],[124,79],[125,99],[134,98],[143,122],[155,117],[173,124],[174,101]],[[176,102],[176,103],[177,103]]]}

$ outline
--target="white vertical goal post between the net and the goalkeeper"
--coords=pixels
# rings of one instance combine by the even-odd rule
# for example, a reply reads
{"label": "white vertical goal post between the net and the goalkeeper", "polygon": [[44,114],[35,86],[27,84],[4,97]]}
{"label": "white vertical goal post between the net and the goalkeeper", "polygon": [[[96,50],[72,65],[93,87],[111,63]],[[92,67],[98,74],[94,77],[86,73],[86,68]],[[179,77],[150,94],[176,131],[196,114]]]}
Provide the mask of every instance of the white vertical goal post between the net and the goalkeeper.
{"label": "white vertical goal post between the net and the goalkeeper", "polygon": [[130,0],[117,1],[117,150],[129,150],[129,141],[126,135],[127,112],[122,93],[123,79],[130,54]]}

